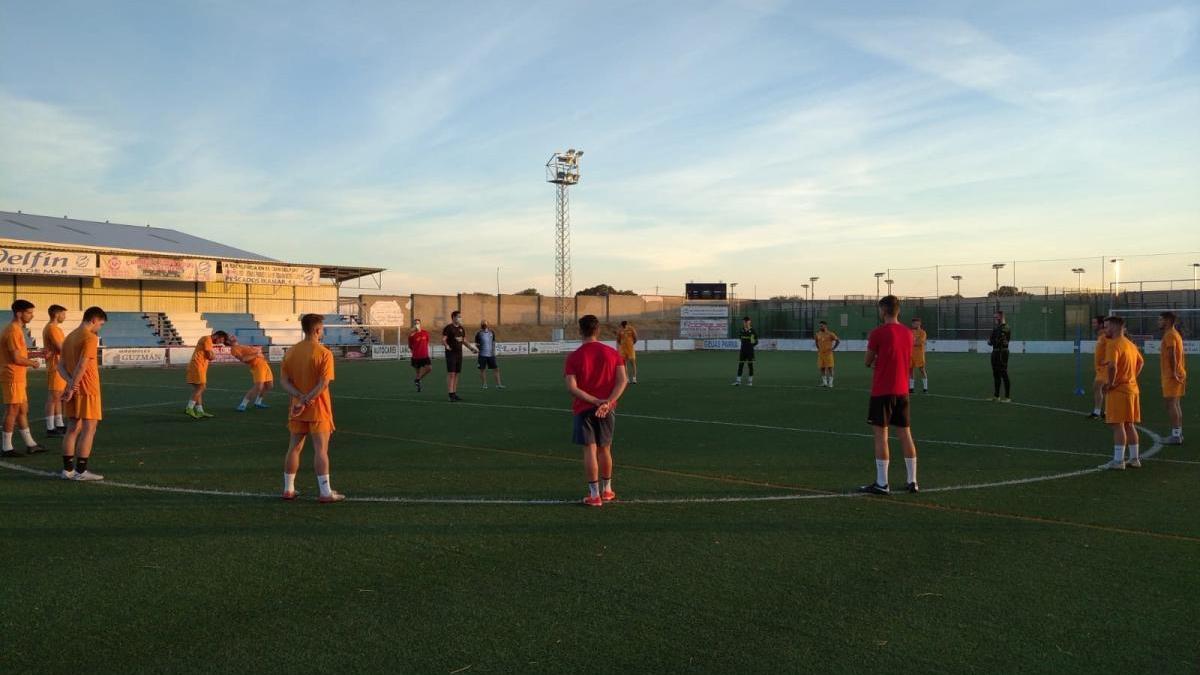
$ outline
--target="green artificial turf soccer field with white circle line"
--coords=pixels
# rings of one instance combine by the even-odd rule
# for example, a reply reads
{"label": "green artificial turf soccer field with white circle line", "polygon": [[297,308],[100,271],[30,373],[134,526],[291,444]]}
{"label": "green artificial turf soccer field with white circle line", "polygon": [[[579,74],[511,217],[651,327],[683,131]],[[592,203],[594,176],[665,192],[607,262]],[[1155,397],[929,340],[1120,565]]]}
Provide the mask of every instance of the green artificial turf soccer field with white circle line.
{"label": "green artificial turf soccer field with white circle line", "polygon": [[[810,353],[761,354],[754,388],[731,353],[650,354],[604,508],[569,503],[562,358],[502,365],[508,389],[467,372],[450,404],[440,363],[421,394],[407,364],[340,363],[340,504],[308,453],[278,500],[284,398],[234,412],[245,369],[212,369],[208,420],[182,371],[103,371],[104,483],[43,477],[56,440],[0,464],[0,671],[1196,671],[1200,442],[1144,434],[1142,470],[1096,471],[1073,357],[1014,357],[1003,405],[985,356],[931,354],[924,491],[874,497],[850,495],[874,477],[862,354],[832,390]],[[1157,378],[1148,357],[1165,435]]]}

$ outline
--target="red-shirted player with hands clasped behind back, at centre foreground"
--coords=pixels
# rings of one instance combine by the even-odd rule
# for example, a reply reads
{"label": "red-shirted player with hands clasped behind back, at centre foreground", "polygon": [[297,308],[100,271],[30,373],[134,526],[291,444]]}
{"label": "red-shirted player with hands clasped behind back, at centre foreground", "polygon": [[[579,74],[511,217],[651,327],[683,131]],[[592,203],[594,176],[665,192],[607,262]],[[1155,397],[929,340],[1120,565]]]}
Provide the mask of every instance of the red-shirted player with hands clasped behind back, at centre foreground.
{"label": "red-shirted player with hands clasped behind back, at centre foreground", "polygon": [[583,446],[583,471],[588,478],[587,506],[617,498],[612,491],[612,434],[617,424],[617,399],[625,393],[625,362],[617,350],[599,341],[600,319],[580,318],[583,346],[566,357],[563,376],[575,400],[572,441]]}

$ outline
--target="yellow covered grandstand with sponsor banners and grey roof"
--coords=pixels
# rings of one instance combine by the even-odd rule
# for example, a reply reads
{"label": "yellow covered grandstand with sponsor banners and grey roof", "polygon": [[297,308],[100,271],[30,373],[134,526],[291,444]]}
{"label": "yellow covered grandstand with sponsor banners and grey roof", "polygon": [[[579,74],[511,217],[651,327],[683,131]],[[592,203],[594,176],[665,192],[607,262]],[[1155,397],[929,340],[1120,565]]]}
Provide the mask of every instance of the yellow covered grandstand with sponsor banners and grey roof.
{"label": "yellow covered grandstand with sponsor banners and grey roof", "polygon": [[242,342],[287,346],[300,339],[300,315],[326,316],[325,342],[370,344],[358,318],[337,315],[341,285],[382,268],[282,262],[175,229],[0,211],[5,304],[37,306],[29,341],[41,342],[47,307],[103,307],[104,347],[191,346],[212,330]]}

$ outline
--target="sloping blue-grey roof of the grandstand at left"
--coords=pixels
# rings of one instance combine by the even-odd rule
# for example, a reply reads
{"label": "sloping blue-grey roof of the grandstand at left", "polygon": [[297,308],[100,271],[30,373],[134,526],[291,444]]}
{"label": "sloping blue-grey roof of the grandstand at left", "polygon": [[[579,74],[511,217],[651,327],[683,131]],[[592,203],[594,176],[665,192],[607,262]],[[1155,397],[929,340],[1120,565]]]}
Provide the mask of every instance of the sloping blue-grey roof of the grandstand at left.
{"label": "sloping blue-grey roof of the grandstand at left", "polygon": [[162,227],[138,227],[67,217],[0,211],[0,240],[49,246],[86,246],[113,251],[170,253],[208,258],[277,262],[266,256]]}

